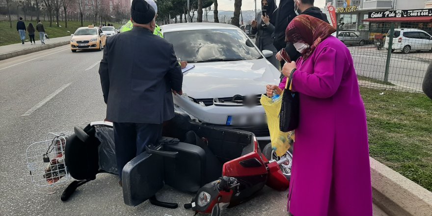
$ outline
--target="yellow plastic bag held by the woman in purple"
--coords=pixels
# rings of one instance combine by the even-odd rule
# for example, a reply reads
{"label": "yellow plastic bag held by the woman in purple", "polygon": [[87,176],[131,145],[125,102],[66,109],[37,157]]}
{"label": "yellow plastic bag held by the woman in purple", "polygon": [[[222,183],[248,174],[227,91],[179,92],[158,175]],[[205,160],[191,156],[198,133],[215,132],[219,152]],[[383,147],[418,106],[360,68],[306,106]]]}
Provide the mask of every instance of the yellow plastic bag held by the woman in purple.
{"label": "yellow plastic bag held by the woman in purple", "polygon": [[[279,130],[279,112],[282,105],[282,94],[276,101],[266,95],[261,95],[261,105],[264,107],[267,115],[267,125],[269,126],[271,148],[276,155],[281,157],[287,153],[290,148],[290,139],[294,139],[294,132],[281,132]],[[270,160],[270,159],[269,159]]]}

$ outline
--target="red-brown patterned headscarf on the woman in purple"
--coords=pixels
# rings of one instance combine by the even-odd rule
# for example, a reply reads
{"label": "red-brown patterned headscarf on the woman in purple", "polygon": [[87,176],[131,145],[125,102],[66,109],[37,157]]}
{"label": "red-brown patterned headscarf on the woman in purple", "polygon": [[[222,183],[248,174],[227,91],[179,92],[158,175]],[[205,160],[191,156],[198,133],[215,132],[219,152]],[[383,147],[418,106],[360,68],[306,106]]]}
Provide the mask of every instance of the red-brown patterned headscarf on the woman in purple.
{"label": "red-brown patterned headscarf on the woman in purple", "polygon": [[285,41],[309,44],[301,56],[304,60],[336,29],[328,23],[308,15],[299,15],[291,21],[285,31]]}

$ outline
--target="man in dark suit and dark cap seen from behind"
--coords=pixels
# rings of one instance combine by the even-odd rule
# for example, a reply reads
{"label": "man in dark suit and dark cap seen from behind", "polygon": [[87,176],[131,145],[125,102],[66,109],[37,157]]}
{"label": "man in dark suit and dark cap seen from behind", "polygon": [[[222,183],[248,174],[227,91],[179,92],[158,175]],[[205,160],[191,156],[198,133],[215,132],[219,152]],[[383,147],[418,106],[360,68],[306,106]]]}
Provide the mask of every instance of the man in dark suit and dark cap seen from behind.
{"label": "man in dark suit and dark cap seen from behind", "polygon": [[124,165],[156,144],[162,123],[174,117],[172,93],[181,95],[183,82],[172,44],[153,34],[155,10],[133,0],[131,21],[131,31],[108,38],[99,68],[120,179]]}

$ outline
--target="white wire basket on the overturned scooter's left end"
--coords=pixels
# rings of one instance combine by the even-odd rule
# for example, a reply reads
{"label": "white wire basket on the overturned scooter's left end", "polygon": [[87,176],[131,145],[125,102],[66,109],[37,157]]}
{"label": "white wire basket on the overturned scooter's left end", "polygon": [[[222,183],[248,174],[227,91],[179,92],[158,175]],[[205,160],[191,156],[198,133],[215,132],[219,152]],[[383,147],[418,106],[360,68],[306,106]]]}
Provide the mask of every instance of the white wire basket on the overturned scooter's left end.
{"label": "white wire basket on the overturned scooter's left end", "polygon": [[27,147],[27,168],[30,180],[40,187],[54,186],[70,179],[64,163],[64,147],[73,132],[48,133],[46,140]]}

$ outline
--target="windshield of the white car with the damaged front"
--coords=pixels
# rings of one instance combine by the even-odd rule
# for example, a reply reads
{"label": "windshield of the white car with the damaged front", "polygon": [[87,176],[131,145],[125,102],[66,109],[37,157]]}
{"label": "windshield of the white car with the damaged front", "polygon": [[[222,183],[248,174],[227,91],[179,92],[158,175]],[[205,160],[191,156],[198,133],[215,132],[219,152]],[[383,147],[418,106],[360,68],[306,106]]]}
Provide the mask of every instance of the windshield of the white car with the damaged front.
{"label": "windshield of the white car with the damaged front", "polygon": [[261,58],[252,42],[237,29],[165,32],[177,57],[188,62],[236,61]]}

